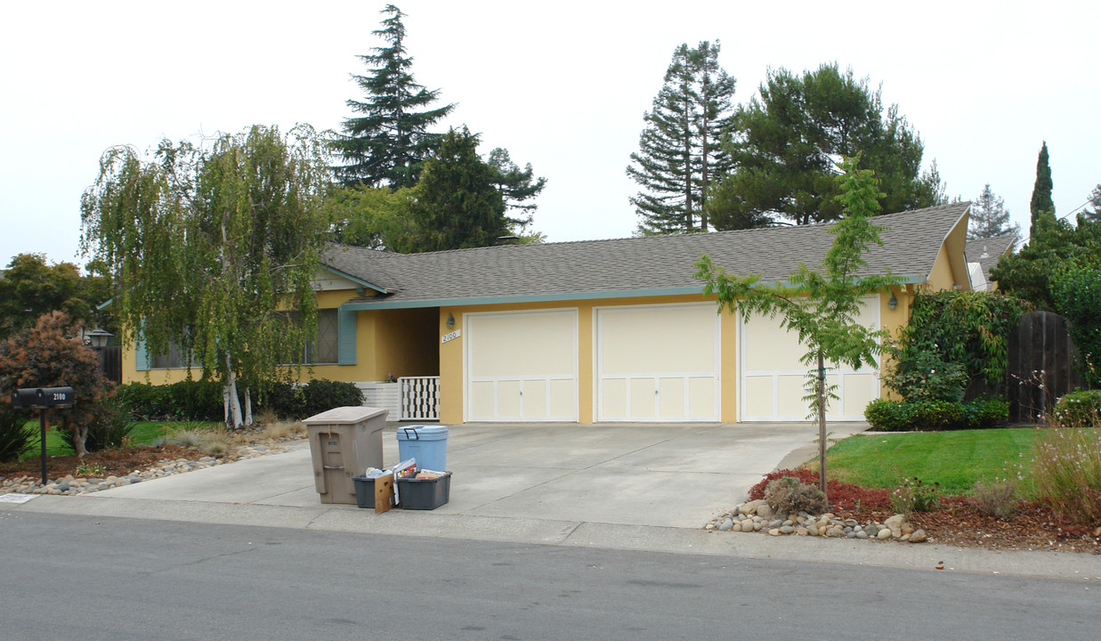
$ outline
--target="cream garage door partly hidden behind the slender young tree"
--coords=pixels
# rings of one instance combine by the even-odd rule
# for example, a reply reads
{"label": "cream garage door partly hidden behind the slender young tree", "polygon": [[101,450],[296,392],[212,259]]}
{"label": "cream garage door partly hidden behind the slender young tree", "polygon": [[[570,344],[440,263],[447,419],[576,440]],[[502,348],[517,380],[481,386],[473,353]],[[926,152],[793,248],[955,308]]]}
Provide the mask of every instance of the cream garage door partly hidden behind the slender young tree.
{"label": "cream garage door partly hidden behind the slender young tree", "polygon": [[[879,328],[879,300],[865,298],[860,324]],[[738,414],[740,421],[807,421],[811,415],[807,391],[807,370],[799,362],[806,348],[798,336],[780,326],[780,318],[754,315],[746,324],[738,322]],[[860,370],[826,363],[826,383],[837,385],[839,400],[830,401],[826,420],[863,421],[864,408],[880,398],[876,365]]]}

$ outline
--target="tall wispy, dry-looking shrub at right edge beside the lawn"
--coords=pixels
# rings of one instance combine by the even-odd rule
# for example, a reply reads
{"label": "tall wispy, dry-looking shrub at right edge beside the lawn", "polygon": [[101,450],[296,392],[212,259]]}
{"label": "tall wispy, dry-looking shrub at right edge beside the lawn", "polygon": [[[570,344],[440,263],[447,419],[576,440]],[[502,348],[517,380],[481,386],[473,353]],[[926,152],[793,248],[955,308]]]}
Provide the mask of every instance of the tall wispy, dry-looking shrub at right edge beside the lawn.
{"label": "tall wispy, dry-looking shrub at right edge beside the lawn", "polygon": [[1101,521],[1101,421],[1091,428],[1056,421],[1033,444],[1034,499],[1071,523]]}

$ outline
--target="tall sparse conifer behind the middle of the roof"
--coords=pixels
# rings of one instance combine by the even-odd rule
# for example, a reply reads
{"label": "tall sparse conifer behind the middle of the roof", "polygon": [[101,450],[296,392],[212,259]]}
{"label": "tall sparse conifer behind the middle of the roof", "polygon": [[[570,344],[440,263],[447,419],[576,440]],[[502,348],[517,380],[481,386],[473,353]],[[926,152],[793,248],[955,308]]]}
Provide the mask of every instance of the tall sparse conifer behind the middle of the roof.
{"label": "tall sparse conifer behind the middle of the roof", "polygon": [[631,197],[643,233],[707,231],[707,192],[730,169],[720,144],[730,128],[734,78],[719,66],[719,43],[682,44],[665,84],[643,116],[639,151],[626,174],[642,188]]}

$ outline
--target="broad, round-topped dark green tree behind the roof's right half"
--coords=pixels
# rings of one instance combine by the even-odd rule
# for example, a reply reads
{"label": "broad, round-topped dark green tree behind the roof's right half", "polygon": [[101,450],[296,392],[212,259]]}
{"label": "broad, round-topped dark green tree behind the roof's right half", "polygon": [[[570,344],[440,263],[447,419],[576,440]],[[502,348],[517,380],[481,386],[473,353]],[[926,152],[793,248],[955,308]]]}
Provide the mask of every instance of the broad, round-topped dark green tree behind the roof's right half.
{"label": "broad, round-topped dark green tree behind the roof's right half", "polygon": [[718,229],[838,219],[835,166],[858,153],[860,167],[880,181],[883,213],[945,202],[936,165],[922,174],[917,132],[851,69],[828,64],[796,75],[781,68],[768,73],[759,96],[734,115],[728,145],[734,169],[709,199]]}

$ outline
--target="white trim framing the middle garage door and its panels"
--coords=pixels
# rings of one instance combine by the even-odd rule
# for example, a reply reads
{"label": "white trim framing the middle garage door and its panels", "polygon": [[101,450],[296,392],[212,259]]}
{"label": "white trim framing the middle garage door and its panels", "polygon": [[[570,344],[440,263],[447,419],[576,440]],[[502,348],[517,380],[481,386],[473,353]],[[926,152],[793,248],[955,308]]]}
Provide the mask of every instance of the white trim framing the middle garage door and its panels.
{"label": "white trim framing the middle garage door and its panels", "polygon": [[[647,371],[647,372],[611,372],[603,371],[601,337],[603,335],[603,313],[630,313],[645,309],[669,309],[669,308],[698,307],[706,308],[715,315],[713,346],[713,371]],[[602,305],[592,308],[592,420],[598,423],[684,423],[684,422],[708,422],[713,423],[720,420],[722,410],[722,323],[715,303],[651,303],[644,305]],[[657,393],[658,381],[661,379],[682,379],[684,382],[684,408],[680,415],[662,416],[661,398]],[[689,382],[691,379],[710,378],[712,382],[713,406],[709,416],[690,415]],[[654,415],[632,416],[631,415],[631,381],[635,379],[650,379],[654,381]],[[601,406],[603,398],[602,385],[604,381],[623,380],[625,385],[624,409],[625,416],[608,416]]]}

